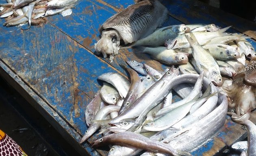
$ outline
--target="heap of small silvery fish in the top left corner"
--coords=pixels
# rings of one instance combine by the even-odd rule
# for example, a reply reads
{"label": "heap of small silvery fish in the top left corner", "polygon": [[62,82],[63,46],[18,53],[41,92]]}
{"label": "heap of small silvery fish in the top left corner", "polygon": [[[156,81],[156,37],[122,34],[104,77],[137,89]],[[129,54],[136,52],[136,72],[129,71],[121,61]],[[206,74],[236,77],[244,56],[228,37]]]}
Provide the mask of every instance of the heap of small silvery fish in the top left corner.
{"label": "heap of small silvery fish in the top left corner", "polygon": [[64,17],[72,14],[77,0],[7,0],[0,4],[0,18],[5,18],[4,26],[28,24],[41,26],[43,17],[61,13]]}

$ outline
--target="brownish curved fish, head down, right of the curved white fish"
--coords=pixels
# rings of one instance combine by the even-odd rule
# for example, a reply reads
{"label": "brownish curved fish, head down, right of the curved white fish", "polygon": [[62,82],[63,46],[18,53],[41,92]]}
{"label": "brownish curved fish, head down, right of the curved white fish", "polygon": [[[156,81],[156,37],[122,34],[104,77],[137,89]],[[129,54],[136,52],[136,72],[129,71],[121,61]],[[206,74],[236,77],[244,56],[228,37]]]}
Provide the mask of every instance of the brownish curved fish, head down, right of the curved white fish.
{"label": "brownish curved fish, head down, right of the curved white fish", "polygon": [[124,112],[126,109],[132,105],[135,100],[139,98],[139,93],[141,93],[143,87],[141,85],[141,80],[139,78],[139,75],[137,72],[133,69],[127,68],[124,66],[124,68],[128,71],[130,74],[130,88],[128,90],[128,93],[124,99],[123,104],[121,105],[120,111],[118,112],[118,115],[120,115],[122,112]]}

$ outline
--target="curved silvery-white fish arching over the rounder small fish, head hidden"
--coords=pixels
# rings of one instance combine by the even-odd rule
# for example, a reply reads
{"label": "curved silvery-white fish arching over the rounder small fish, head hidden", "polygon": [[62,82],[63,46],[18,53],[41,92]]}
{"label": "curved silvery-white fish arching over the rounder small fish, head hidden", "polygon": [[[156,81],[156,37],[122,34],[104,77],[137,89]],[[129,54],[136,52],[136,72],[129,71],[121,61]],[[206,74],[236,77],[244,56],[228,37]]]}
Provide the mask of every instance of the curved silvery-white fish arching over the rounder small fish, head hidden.
{"label": "curved silvery-white fish arching over the rounder small fish, head hidden", "polygon": [[121,76],[118,73],[109,72],[98,76],[98,80],[110,83],[117,89],[121,98],[126,97],[130,87],[130,82],[124,76]]}

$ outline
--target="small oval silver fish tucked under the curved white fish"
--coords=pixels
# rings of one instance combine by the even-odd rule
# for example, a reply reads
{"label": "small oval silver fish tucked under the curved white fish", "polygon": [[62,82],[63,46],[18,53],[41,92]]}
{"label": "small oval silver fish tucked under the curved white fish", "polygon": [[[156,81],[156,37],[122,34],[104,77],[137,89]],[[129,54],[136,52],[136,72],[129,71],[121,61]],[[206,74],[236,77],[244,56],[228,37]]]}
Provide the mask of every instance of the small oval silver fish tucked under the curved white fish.
{"label": "small oval silver fish tucked under the curved white fish", "polygon": [[117,89],[107,82],[103,82],[103,86],[100,89],[100,96],[104,102],[112,105],[116,105],[117,101],[121,98]]}

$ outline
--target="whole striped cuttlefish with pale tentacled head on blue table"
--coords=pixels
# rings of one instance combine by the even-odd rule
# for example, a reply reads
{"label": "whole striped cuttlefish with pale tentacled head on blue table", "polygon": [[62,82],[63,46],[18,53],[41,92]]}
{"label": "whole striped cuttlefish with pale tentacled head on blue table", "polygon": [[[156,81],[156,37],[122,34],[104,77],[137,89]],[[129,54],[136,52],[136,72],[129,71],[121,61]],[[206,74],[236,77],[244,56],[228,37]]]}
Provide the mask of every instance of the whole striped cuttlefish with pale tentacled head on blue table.
{"label": "whole striped cuttlefish with pale tentacled head on blue table", "polygon": [[113,61],[120,45],[126,45],[150,35],[162,26],[168,10],[158,0],[143,0],[128,6],[123,11],[108,18],[100,27],[100,40],[95,43],[97,54]]}

